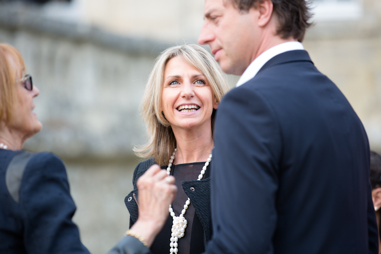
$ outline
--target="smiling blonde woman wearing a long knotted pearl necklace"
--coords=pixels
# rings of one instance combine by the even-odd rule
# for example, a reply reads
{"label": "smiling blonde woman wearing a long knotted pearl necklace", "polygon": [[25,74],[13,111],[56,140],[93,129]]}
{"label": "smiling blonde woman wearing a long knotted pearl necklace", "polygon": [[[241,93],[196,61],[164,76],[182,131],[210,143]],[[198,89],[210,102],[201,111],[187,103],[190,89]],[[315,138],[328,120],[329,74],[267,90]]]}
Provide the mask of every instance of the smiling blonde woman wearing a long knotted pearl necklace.
{"label": "smiling blonde woman wearing a long knotted pearl necklace", "polygon": [[202,253],[212,236],[209,173],[216,109],[229,90],[209,52],[198,45],[168,48],[157,57],[142,102],[149,142],[135,148],[149,158],[135,169],[134,190],[125,197],[130,227],[138,218],[136,182],[153,164],[175,177],[178,193],[154,240],[157,253]]}

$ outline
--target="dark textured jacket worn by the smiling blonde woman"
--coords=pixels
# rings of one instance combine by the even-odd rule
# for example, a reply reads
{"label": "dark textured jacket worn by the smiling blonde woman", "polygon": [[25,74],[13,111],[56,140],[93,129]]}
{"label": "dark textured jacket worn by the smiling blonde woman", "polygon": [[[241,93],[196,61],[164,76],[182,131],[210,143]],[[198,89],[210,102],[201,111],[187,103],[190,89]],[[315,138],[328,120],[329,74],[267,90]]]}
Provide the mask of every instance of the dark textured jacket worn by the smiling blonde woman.
{"label": "dark textured jacket worn by the smiling blonde woman", "polygon": [[[134,184],[134,190],[124,198],[125,206],[127,209],[129,209],[130,212],[130,228],[132,225],[134,225],[139,215],[138,205],[136,204],[133,196],[135,194],[135,197],[138,198],[138,188],[136,186],[136,182],[138,181],[138,178],[143,175],[153,164],[156,164],[155,161],[153,159],[149,159],[139,163],[138,166],[136,166],[132,180],[132,183]],[[166,166],[163,166],[162,168],[165,169]],[[171,174],[172,173],[173,172],[171,172]],[[210,178],[206,178],[200,181],[182,181],[181,185],[184,189],[185,194],[192,201],[197,216],[200,218],[201,224],[204,228],[204,245],[206,247],[206,244],[211,239],[213,233],[210,215]],[[192,188],[194,190],[191,190],[191,187],[194,187]]]}

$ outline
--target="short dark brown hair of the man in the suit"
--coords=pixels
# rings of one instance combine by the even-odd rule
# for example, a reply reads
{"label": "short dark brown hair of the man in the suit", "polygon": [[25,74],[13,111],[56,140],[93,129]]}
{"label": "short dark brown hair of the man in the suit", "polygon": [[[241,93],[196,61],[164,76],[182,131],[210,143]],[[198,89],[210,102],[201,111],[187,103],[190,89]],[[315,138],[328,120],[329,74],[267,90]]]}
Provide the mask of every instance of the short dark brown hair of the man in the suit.
{"label": "short dark brown hair of the man in the suit", "polygon": [[[263,0],[229,0],[233,2],[239,11],[247,12],[250,8],[257,7]],[[311,25],[308,20],[310,12],[310,0],[271,0],[273,13],[278,17],[279,27],[277,35],[286,39],[293,37],[299,42],[303,41],[306,29]]]}

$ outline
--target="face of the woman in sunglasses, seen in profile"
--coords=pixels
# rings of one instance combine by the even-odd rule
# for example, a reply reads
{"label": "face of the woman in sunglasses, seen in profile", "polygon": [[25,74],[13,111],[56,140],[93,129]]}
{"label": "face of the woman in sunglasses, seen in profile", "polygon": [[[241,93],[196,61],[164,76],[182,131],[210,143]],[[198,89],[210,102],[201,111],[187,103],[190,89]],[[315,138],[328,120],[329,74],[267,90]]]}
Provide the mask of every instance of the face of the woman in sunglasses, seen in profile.
{"label": "face of the woman in sunglasses, seen in profile", "polygon": [[[11,59],[10,62],[12,62]],[[36,86],[33,86],[33,90],[31,91],[25,88],[24,83],[19,81],[22,78],[22,71],[20,69],[21,68],[18,68],[16,72],[16,84],[14,88],[16,104],[12,109],[12,118],[7,126],[13,132],[19,133],[24,138],[29,138],[42,129],[41,122],[38,120],[36,113],[33,112],[35,108],[33,98],[38,96],[40,91]]]}

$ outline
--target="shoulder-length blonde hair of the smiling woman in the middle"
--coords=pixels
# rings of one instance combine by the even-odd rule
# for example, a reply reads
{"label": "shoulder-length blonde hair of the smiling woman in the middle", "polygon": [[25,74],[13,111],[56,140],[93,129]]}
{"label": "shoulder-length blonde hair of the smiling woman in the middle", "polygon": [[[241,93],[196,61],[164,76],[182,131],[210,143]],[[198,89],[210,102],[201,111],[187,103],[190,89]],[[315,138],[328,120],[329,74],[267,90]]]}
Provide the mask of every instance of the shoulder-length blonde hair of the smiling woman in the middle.
{"label": "shoulder-length blonde hair of the smiling woman in the middle", "polygon": [[[164,70],[167,62],[180,56],[190,66],[199,70],[208,80],[213,95],[219,103],[224,94],[229,91],[225,74],[210,53],[196,44],[174,46],[163,51],[155,60],[153,69],[148,77],[142,101],[143,121],[147,125],[149,141],[147,144],[135,147],[138,156],[153,157],[158,165],[168,163],[176,147],[176,139],[170,123],[161,112]],[[214,132],[214,116],[212,113],[212,135]]]}

